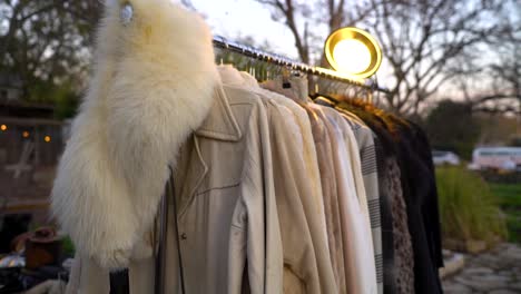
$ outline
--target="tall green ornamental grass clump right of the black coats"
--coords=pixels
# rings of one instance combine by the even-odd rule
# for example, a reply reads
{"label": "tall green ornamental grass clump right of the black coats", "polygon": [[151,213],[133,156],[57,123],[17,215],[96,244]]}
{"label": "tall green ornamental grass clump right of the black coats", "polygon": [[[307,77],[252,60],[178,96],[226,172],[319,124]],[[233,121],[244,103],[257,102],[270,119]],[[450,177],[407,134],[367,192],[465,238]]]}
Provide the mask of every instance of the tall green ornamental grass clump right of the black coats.
{"label": "tall green ornamental grass clump right of the black coats", "polygon": [[507,236],[499,202],[479,175],[462,167],[441,167],[436,182],[444,237],[491,243]]}

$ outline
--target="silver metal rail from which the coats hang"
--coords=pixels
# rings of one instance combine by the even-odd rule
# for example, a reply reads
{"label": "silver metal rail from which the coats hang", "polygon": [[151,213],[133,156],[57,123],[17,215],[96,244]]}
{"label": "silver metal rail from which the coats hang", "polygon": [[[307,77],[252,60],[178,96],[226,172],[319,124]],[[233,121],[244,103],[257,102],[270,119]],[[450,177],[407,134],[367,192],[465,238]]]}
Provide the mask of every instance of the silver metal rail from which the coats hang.
{"label": "silver metal rail from which the coats hang", "polygon": [[366,79],[364,82],[353,80],[346,77],[342,77],[341,75],[331,69],[308,66],[306,63],[292,60],[284,56],[269,53],[264,50],[253,48],[250,46],[245,46],[235,41],[227,40],[222,36],[214,37],[214,46],[249,58],[255,58],[264,62],[287,67],[293,70],[297,70],[307,75],[313,75],[320,78],[345,82],[371,91],[389,92],[389,89],[381,88],[374,80]]}

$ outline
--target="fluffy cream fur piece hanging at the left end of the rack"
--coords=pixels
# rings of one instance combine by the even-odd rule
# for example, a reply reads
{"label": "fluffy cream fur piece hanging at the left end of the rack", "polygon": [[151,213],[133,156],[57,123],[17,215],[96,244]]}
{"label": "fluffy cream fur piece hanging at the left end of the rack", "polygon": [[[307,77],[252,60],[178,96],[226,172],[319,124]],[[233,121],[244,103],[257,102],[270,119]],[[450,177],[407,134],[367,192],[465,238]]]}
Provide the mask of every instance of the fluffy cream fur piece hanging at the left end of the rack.
{"label": "fluffy cream fur piece hanging at the left end of the rack", "polygon": [[[125,26],[121,2],[134,7]],[[218,75],[208,27],[169,0],[108,0],[95,62],[51,207],[81,255],[119,268],[139,258],[168,165],[206,118]]]}

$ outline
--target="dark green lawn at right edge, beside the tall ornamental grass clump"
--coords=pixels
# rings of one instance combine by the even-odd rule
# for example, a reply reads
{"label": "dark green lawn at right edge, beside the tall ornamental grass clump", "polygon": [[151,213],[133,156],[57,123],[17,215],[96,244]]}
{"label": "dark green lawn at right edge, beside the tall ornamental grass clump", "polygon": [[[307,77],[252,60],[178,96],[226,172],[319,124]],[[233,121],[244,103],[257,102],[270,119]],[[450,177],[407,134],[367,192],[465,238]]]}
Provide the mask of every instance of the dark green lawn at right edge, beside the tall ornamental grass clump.
{"label": "dark green lawn at right edge, beside the tall ornamental grass clump", "polygon": [[491,188],[507,214],[509,241],[521,243],[521,184],[492,184]]}

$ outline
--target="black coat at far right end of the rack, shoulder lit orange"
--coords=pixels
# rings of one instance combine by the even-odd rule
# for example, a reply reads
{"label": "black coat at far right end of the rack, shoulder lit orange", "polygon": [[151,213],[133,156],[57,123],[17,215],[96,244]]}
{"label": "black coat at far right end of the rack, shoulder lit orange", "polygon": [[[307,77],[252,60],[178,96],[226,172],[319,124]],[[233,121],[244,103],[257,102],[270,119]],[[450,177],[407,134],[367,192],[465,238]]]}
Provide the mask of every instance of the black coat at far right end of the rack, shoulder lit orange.
{"label": "black coat at far right end of the rack, shoulder lit orange", "polygon": [[[342,98],[340,98],[342,99]],[[416,293],[441,293],[439,268],[443,266],[438,192],[431,148],[420,127],[372,106],[357,101],[341,102],[381,131],[385,148],[397,159],[407,226],[414,257]]]}

